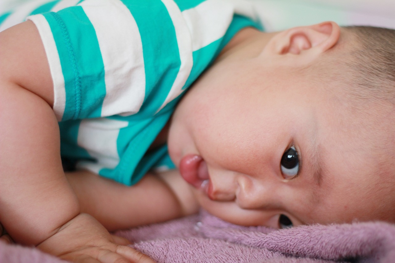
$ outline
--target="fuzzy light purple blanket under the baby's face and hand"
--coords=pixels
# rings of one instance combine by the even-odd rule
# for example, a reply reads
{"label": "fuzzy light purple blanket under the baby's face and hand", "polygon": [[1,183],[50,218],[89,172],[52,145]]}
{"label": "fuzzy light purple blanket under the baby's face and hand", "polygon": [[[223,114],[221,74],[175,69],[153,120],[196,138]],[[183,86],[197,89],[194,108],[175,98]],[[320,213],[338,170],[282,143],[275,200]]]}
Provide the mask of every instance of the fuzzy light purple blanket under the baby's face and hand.
{"label": "fuzzy light purple blanket under the baby's face and hand", "polygon": [[[119,231],[157,262],[395,262],[395,225],[311,225],[274,230],[241,227],[207,212]],[[0,262],[65,262],[35,248],[0,242]]]}

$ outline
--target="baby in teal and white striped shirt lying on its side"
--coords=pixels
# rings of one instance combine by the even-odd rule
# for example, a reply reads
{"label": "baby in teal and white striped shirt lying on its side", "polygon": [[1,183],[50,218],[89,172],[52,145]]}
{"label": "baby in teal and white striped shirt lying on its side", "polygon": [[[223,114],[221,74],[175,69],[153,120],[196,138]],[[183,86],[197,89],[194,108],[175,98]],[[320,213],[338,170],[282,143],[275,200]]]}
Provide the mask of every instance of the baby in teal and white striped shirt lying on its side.
{"label": "baby in teal and white striped shirt lying on its side", "polygon": [[154,2],[85,0],[0,33],[15,241],[151,262],[108,231],[199,207],[275,228],[395,222],[393,30],[264,33],[244,2]]}

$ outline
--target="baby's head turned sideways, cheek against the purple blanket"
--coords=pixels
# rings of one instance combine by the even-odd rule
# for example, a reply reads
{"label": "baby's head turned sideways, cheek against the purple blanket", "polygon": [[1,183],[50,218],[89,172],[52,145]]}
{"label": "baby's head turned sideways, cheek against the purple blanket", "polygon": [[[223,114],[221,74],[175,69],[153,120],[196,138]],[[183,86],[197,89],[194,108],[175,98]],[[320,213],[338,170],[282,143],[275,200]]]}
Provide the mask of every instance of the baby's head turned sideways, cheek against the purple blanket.
{"label": "baby's head turned sideways, cheek against the purple blanket", "polygon": [[332,22],[240,32],[171,122],[201,206],[241,225],[395,222],[394,43]]}

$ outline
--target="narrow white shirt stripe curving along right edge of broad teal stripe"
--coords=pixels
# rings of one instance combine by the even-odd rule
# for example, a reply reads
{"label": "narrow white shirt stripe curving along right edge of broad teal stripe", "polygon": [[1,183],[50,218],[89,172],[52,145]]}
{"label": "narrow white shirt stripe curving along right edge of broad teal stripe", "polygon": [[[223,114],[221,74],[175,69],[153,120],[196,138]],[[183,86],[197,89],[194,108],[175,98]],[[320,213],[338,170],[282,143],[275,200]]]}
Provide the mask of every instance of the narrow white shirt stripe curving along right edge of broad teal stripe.
{"label": "narrow white shirt stripe curving along right edge of broad teal stripe", "polygon": [[167,94],[166,100],[158,109],[158,111],[160,111],[163,107],[166,106],[167,103],[174,100],[182,93],[182,87],[188,79],[194,63],[192,57],[191,34],[185,24],[184,18],[181,15],[180,9],[175,4],[175,2],[173,2],[173,0],[162,0],[162,2],[166,6],[167,11],[169,12],[169,15],[171,17],[171,21],[173,21],[174,24],[181,65],[177,77],[173,83],[173,86],[171,87],[169,94]]}

